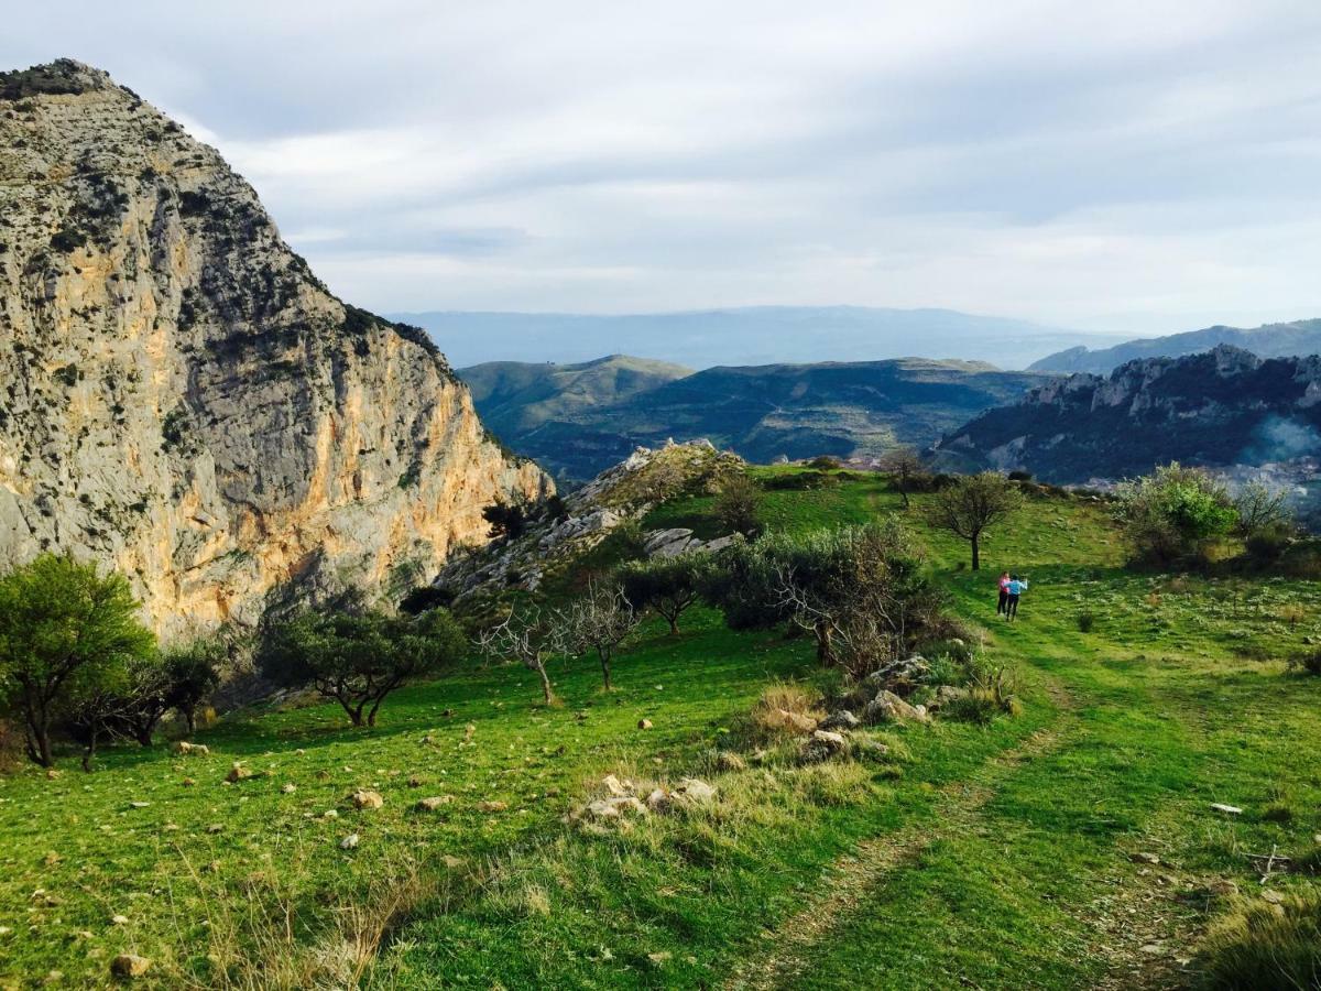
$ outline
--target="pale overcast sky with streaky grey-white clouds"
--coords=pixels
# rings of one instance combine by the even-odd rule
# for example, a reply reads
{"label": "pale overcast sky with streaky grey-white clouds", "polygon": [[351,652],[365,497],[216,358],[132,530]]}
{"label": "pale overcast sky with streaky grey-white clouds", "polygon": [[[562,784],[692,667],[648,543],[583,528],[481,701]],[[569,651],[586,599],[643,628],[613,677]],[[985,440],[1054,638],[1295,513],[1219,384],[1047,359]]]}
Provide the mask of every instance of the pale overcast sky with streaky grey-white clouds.
{"label": "pale overcast sky with streaky grey-white clouds", "polygon": [[22,4],[376,311],[1321,316],[1321,0]]}

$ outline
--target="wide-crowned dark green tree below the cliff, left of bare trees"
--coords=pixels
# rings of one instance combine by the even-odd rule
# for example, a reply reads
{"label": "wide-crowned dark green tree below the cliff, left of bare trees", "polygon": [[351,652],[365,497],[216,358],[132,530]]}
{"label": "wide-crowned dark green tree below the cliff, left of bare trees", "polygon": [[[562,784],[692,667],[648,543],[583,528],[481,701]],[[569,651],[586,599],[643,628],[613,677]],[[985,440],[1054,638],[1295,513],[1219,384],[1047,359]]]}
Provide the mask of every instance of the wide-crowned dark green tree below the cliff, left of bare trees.
{"label": "wide-crowned dark green tree below the cliff, left of bare trees", "polygon": [[373,727],[390,692],[441,673],[465,647],[458,624],[444,609],[417,617],[306,610],[269,630],[258,663],[276,684],[310,684],[338,702],[353,725]]}

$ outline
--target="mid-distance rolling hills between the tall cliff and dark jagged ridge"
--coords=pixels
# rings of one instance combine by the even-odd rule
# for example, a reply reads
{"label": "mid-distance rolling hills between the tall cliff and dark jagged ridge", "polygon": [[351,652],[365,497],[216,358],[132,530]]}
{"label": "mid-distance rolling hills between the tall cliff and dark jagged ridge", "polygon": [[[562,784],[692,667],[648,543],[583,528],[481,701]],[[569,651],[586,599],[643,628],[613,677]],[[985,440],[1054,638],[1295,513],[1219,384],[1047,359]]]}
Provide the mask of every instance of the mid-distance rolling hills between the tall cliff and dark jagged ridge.
{"label": "mid-distance rolling hills between the tall cliff and dark jagged ridge", "polygon": [[708,437],[753,461],[930,445],[1049,377],[905,358],[684,369],[610,357],[460,369],[485,423],[561,478],[590,478],[638,444]]}

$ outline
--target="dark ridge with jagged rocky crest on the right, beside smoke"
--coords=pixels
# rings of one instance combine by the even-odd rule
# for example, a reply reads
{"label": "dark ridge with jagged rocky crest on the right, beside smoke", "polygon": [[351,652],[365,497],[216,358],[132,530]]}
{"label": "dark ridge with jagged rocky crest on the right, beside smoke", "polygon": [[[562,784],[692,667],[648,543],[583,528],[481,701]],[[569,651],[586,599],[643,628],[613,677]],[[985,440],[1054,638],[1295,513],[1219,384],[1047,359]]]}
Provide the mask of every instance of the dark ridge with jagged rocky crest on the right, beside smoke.
{"label": "dark ridge with jagged rocky crest on the right, beside smoke", "polygon": [[946,435],[937,457],[1081,482],[1168,461],[1227,466],[1314,456],[1318,427],[1321,357],[1262,359],[1222,345],[1034,388]]}

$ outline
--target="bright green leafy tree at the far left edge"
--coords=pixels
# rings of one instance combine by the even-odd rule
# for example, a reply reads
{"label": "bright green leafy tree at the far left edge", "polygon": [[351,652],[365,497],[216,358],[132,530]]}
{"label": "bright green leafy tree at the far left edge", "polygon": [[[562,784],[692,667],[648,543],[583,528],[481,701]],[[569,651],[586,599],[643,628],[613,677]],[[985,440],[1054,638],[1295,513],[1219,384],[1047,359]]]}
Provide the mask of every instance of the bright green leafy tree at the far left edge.
{"label": "bright green leafy tree at the far left edge", "polygon": [[115,691],[156,638],[137,618],[123,575],[42,554],[0,577],[0,690],[22,720],[28,756],[54,762],[50,729],[62,706]]}

